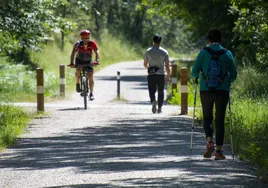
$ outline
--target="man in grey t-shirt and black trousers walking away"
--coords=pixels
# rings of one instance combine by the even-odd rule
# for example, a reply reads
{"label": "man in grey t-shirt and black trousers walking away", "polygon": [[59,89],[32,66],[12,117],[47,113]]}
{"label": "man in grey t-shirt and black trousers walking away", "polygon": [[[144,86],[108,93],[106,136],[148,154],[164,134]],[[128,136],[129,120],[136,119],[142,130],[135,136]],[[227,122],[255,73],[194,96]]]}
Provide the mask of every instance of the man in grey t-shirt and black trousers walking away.
{"label": "man in grey t-shirt and black trousers walking away", "polygon": [[[153,46],[148,48],[144,56],[144,67],[148,70],[148,90],[150,101],[152,103],[152,112],[155,114],[162,112],[164,101],[164,85],[169,82],[169,55],[168,51],[160,46],[162,36],[156,34],[153,36]],[[165,71],[167,73],[165,79]],[[158,93],[156,101],[155,93]],[[158,106],[158,109],[157,109]]]}

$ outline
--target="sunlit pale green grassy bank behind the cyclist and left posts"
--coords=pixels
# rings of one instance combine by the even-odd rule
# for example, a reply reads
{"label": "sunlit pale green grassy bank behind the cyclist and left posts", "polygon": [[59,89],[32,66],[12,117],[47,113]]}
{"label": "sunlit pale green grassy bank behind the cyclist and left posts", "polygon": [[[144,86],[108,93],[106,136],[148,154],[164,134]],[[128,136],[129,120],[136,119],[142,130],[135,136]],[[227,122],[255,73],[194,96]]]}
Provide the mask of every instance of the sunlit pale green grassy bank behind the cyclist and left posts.
{"label": "sunlit pale green grassy bank behind the cyclist and left posts", "polygon": [[[55,35],[54,40],[60,41],[60,35]],[[108,33],[102,35],[103,44],[99,44],[100,66],[98,71],[109,64],[119,61],[136,60],[138,46],[123,42],[124,39],[113,38]],[[59,98],[59,66],[67,65],[70,61],[72,44],[65,43],[64,50],[61,50],[59,43],[49,43],[43,47],[42,52],[31,53],[32,61],[44,70],[45,100]],[[126,53],[120,54],[121,49],[129,49]],[[138,48],[140,50],[140,48]],[[143,50],[144,51],[144,50]],[[1,60],[3,61],[3,60]],[[66,67],[66,91],[73,90],[75,85],[74,70]],[[20,102],[36,100],[36,71],[23,64],[6,64],[0,68],[0,101]]]}

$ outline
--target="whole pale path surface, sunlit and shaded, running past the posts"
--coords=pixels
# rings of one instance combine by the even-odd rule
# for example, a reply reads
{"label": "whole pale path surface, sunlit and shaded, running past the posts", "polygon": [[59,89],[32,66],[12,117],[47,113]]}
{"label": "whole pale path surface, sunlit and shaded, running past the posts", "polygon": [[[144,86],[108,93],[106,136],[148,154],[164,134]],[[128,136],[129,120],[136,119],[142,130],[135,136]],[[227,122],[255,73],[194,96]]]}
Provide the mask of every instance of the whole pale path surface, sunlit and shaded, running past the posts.
{"label": "whole pale path surface, sunlit and shaded, running past the posts", "polygon": [[267,187],[253,166],[232,159],[228,145],[226,160],[203,159],[206,141],[198,126],[190,152],[191,118],[179,115],[178,106],[151,112],[142,64],[97,72],[87,110],[77,93],[45,104],[48,115],[34,119],[18,143],[0,153],[0,187]]}

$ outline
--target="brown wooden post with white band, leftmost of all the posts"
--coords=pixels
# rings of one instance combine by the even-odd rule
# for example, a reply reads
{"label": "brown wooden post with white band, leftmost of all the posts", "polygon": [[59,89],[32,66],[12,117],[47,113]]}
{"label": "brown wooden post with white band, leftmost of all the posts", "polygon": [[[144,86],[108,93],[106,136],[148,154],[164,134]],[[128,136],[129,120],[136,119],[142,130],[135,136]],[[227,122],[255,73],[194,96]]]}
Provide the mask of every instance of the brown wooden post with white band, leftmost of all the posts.
{"label": "brown wooden post with white band, leftmost of all the posts", "polygon": [[41,68],[36,69],[36,83],[37,111],[44,111],[44,71]]}

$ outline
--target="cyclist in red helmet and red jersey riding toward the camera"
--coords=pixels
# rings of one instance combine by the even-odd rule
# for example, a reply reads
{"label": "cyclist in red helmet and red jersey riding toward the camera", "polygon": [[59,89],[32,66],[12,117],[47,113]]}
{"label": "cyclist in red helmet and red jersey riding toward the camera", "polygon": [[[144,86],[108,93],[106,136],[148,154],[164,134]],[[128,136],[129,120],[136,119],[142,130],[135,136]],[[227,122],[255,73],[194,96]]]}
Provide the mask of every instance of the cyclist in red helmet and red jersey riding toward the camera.
{"label": "cyclist in red helmet and red jersey riding toward the camera", "polygon": [[[80,32],[81,40],[75,43],[72,53],[70,67],[77,67],[78,65],[90,65],[88,68],[88,79],[89,79],[89,99],[94,100],[93,89],[94,89],[94,78],[93,78],[93,66],[99,64],[99,50],[95,41],[90,40],[91,33],[88,30],[82,30]],[[92,62],[92,52],[95,53],[95,61]],[[75,58],[75,64],[74,64]],[[77,67],[75,71],[76,78],[76,91],[80,92],[80,72],[82,68]]]}

